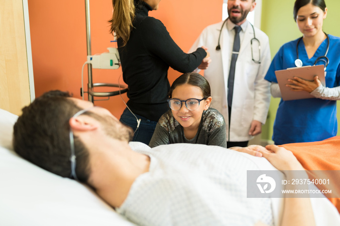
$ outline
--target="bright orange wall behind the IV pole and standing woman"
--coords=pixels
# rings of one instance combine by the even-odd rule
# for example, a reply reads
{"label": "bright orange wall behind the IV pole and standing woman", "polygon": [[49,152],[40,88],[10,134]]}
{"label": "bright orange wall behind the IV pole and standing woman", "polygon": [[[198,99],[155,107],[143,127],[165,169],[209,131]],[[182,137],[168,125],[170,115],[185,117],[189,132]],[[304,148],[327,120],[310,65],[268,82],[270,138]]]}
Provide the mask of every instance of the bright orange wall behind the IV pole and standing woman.
{"label": "bright orange wall behind the IV pole and standing woman", "polygon": [[[113,37],[108,32],[107,23],[112,14],[111,2],[90,0],[92,54],[106,52],[106,48],[112,46],[110,40]],[[162,0],[159,9],[149,15],[160,19],[174,41],[187,51],[204,27],[221,20],[222,2],[223,0],[209,3],[206,0]],[[35,96],[59,89],[73,93],[74,97],[81,97],[81,71],[87,55],[85,0],[29,0],[28,6]],[[120,68],[92,70],[93,82],[118,83],[120,74]],[[170,69],[170,84],[179,75],[179,72]],[[120,81],[123,82],[122,79]],[[87,66],[84,70],[84,84],[86,87]],[[126,94],[122,96],[127,101]],[[110,97],[106,101],[95,101],[95,105],[109,109],[117,117],[125,108],[119,96]]]}

